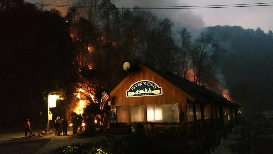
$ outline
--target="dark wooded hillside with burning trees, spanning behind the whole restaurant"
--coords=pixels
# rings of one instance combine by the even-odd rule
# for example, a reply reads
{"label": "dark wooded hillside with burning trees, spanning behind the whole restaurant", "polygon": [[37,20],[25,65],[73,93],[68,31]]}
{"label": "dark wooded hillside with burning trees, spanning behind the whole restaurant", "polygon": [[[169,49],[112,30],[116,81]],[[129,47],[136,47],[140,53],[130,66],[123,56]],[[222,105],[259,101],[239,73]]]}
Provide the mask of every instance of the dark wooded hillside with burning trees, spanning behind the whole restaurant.
{"label": "dark wooded hillside with burning trees, spanning behind the whole restaurant", "polygon": [[228,89],[250,114],[273,109],[271,31],[214,26],[192,38],[175,25],[177,39],[168,18],[97,2],[97,10],[71,7],[61,16],[23,0],[0,1],[0,123],[8,121],[0,131],[19,130],[27,118],[33,129],[44,128],[50,91],[60,95],[53,118],[72,112],[80,89],[99,110],[101,86],[110,92],[128,75],[125,61],[129,73],[143,63],[219,94]]}

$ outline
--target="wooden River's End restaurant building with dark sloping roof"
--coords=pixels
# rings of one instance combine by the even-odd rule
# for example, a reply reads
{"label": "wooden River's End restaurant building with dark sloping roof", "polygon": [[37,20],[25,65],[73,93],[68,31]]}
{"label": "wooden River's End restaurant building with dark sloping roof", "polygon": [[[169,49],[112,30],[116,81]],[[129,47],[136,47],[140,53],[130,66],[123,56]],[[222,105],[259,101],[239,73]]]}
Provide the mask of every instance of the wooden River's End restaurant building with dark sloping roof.
{"label": "wooden River's End restaurant building with dark sloping roof", "polygon": [[238,105],[223,96],[172,73],[138,67],[110,92],[115,127],[143,122],[158,150],[191,153],[214,150],[238,123]]}

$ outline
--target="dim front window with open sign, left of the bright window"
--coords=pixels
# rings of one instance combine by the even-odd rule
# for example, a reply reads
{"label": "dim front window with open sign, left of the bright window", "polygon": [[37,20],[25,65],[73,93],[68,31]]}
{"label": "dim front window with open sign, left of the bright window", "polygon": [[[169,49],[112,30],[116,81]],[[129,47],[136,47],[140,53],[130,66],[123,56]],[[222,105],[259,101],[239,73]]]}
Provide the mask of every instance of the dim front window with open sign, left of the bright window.
{"label": "dim front window with open sign, left of the bright window", "polygon": [[144,122],[144,110],[142,105],[117,106],[117,122]]}

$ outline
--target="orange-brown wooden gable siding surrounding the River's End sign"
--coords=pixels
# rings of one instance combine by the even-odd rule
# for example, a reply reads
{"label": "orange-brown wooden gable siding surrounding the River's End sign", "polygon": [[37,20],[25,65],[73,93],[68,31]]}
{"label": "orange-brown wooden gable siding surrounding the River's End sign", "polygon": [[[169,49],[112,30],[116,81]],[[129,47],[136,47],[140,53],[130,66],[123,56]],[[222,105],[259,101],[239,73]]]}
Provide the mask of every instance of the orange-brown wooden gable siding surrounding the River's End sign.
{"label": "orange-brown wooden gable siding surrounding the River's End sign", "polygon": [[[162,95],[160,96],[144,96],[144,97],[126,97],[126,90],[130,86],[140,80],[150,80],[162,87]],[[185,93],[163,79],[150,69],[141,67],[140,71],[126,77],[113,91],[110,93],[114,106],[123,105],[146,105],[146,104],[172,104],[186,103]],[[191,98],[192,99],[192,98]],[[183,110],[184,106],[182,106]]]}

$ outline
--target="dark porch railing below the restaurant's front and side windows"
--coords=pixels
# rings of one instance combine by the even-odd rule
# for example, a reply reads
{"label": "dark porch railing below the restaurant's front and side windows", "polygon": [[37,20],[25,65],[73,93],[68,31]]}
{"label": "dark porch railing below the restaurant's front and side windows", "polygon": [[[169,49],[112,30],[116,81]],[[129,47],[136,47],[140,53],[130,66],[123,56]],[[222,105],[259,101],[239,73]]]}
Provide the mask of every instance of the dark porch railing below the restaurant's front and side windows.
{"label": "dark porch railing below the restaurant's front and side windows", "polygon": [[[213,140],[215,133],[217,136],[226,136],[228,131],[231,130],[231,124],[222,127],[220,118],[190,121],[187,123],[143,123],[147,137],[155,141],[175,142],[204,137],[207,140]],[[133,123],[116,123],[115,125],[117,125],[116,127],[133,127]]]}

